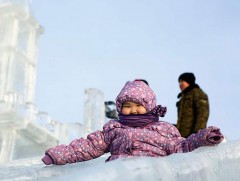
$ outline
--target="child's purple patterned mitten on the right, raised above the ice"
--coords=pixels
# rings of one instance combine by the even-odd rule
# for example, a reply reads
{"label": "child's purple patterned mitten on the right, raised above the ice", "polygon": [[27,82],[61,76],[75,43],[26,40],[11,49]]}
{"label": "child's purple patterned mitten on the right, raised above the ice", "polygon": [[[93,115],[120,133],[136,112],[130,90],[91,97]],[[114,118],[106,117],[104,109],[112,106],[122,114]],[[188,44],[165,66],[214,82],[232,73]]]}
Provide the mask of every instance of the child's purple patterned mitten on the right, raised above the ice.
{"label": "child's purple patterned mitten on the right, raised above the ice", "polygon": [[209,126],[205,131],[206,145],[219,144],[224,139],[220,129],[215,126]]}

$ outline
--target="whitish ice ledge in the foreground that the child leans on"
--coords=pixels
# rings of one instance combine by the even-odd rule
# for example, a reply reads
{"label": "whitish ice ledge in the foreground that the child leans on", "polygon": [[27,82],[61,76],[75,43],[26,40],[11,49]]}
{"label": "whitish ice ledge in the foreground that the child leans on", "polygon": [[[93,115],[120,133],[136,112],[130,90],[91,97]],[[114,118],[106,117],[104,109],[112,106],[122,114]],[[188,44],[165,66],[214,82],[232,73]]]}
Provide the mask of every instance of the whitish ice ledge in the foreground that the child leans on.
{"label": "whitish ice ledge in the foreground that the child leans on", "polygon": [[0,180],[227,181],[240,177],[240,140],[159,158],[105,162],[107,156],[63,166],[45,166],[41,158],[7,162],[0,165]]}

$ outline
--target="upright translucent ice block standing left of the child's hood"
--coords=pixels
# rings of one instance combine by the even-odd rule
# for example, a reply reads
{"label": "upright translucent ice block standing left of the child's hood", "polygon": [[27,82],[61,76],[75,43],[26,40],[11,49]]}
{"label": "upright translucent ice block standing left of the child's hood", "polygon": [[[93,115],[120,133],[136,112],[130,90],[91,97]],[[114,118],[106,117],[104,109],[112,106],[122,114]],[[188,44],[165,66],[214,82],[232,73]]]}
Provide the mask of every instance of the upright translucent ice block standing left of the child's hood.
{"label": "upright translucent ice block standing left of the child's hood", "polygon": [[92,131],[102,129],[105,123],[104,94],[96,89],[85,89],[84,125]]}

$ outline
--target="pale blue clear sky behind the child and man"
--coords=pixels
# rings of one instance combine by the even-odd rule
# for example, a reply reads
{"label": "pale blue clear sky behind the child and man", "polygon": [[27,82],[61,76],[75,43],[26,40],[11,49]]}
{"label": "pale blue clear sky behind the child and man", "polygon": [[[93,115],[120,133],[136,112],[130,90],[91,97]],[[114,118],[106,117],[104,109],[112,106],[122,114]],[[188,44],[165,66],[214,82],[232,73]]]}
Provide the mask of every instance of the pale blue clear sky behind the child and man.
{"label": "pale blue clear sky behind the child and man", "polygon": [[239,0],[32,0],[39,39],[36,105],[61,122],[82,122],[84,89],[115,100],[146,79],[162,119],[176,123],[178,76],[193,72],[208,94],[208,125],[239,139]]}

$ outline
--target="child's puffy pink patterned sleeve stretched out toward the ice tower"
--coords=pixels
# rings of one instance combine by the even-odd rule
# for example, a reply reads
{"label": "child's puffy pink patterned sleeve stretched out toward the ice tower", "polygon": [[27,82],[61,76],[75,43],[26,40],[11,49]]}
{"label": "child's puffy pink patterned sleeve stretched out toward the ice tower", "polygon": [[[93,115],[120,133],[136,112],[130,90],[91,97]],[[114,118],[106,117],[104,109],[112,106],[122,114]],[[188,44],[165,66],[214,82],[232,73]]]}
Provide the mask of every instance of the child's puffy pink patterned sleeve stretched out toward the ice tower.
{"label": "child's puffy pink patterned sleeve stretched out toward the ice tower", "polygon": [[69,145],[50,148],[45,154],[52,158],[53,164],[64,165],[97,158],[103,155],[107,148],[103,132],[96,131],[89,134],[86,139],[75,139]]}

